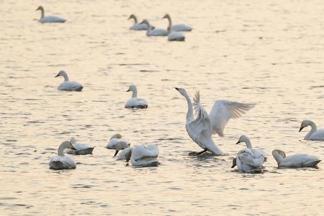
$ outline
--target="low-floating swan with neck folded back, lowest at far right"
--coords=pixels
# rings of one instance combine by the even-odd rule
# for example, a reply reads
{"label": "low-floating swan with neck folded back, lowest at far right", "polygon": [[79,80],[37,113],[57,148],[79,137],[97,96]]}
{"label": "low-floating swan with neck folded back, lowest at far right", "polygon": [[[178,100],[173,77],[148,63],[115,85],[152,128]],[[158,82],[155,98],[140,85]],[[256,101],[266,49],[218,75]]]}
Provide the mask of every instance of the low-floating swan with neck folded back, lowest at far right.
{"label": "low-floating swan with neck folded back, lowest at far right", "polygon": [[314,167],[321,161],[308,154],[294,154],[286,157],[286,153],[279,149],[273,150],[272,156],[277,161],[278,167]]}

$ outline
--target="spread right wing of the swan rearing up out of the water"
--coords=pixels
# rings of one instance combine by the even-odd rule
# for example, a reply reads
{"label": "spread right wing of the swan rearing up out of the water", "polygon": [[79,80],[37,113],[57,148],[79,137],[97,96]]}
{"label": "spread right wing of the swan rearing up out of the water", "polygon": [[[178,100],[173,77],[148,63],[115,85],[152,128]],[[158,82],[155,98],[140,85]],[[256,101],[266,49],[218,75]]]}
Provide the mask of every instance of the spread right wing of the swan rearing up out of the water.
{"label": "spread right wing of the swan rearing up out of the water", "polygon": [[217,100],[209,114],[213,125],[213,134],[224,137],[224,128],[230,118],[238,118],[255,107],[255,104],[238,103],[234,101]]}

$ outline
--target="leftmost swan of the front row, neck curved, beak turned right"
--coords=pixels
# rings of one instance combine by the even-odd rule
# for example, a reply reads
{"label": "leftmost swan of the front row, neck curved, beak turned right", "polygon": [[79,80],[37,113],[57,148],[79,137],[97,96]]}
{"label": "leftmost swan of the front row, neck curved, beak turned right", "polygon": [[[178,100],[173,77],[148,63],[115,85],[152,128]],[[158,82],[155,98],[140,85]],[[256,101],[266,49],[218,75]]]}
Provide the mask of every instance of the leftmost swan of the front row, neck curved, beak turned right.
{"label": "leftmost swan of the front row, neck curved, beak turned right", "polygon": [[72,158],[65,156],[64,149],[74,149],[69,141],[61,143],[57,150],[57,155],[51,158],[49,162],[50,169],[72,169],[76,168],[76,164]]}

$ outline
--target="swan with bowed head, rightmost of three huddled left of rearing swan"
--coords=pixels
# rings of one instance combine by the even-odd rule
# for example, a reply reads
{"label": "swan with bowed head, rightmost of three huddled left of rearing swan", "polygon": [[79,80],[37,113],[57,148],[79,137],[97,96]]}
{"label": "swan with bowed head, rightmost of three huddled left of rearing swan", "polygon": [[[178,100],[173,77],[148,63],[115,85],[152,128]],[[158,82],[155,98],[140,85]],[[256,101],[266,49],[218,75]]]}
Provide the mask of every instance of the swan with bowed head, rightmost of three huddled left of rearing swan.
{"label": "swan with bowed head, rightmost of three huddled left of rearing swan", "polygon": [[133,166],[157,166],[158,153],[156,145],[136,146],[126,151],[126,162],[131,160]]}

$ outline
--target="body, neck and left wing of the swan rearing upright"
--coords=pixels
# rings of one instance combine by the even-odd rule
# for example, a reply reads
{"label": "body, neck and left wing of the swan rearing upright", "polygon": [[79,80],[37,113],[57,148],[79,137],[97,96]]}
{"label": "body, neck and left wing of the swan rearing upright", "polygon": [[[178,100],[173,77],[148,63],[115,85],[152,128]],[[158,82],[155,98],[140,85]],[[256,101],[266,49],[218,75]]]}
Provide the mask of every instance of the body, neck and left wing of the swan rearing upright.
{"label": "body, neck and left wing of the swan rearing upright", "polygon": [[[202,154],[206,151],[212,152],[214,155],[223,154],[221,150],[215,145],[212,140],[212,124],[208,113],[205,108],[200,104],[199,91],[196,92],[193,99],[193,107],[196,112],[196,118],[193,116],[193,108],[191,100],[185,89],[175,88],[182,96],[184,96],[188,103],[188,112],[186,118],[186,130],[189,137],[204,151],[196,153],[196,155]],[[191,154],[191,153],[190,153]]]}

